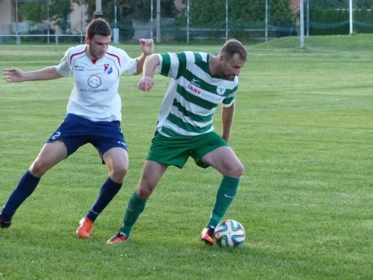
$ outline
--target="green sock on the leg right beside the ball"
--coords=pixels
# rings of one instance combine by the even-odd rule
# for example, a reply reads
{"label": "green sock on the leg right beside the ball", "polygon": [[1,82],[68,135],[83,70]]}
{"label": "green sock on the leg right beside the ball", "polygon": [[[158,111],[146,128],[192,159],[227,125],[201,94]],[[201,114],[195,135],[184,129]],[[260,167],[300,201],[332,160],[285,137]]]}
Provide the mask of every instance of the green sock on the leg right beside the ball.
{"label": "green sock on the leg right beside the ball", "polygon": [[207,224],[208,227],[212,225],[214,228],[216,228],[236,196],[238,187],[239,179],[230,176],[223,177],[218,189],[218,193],[216,194],[216,202],[213,205],[213,212],[211,214],[210,221]]}

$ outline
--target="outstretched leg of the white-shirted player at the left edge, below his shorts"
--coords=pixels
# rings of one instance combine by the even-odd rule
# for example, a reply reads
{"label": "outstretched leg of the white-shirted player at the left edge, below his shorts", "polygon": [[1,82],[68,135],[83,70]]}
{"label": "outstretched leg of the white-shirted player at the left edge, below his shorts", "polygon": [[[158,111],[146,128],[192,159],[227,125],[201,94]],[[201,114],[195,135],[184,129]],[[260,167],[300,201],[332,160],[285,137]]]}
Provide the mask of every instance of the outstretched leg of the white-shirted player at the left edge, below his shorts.
{"label": "outstretched leg of the white-shirted player at the left edge, below his shorts", "polygon": [[58,162],[66,158],[67,149],[62,141],[53,141],[43,146],[31,167],[23,174],[17,187],[13,190],[0,214],[1,228],[8,228],[11,218],[18,207],[34,192],[41,176]]}

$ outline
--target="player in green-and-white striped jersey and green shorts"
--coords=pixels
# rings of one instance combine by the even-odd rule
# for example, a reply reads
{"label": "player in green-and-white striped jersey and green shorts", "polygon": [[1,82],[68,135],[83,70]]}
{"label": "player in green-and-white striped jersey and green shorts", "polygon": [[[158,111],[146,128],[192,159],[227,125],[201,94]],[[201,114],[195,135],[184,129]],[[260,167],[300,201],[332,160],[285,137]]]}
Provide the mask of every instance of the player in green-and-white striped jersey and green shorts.
{"label": "player in green-and-white striped jersey and green shorts", "polygon": [[[139,89],[153,87],[153,71],[171,78],[164,96],[155,137],[143,168],[139,186],[130,198],[124,223],[108,244],[127,241],[137,218],[145,208],[169,165],[182,168],[189,157],[202,168],[209,166],[223,175],[211,218],[202,231],[202,241],[213,244],[213,232],[230,207],[244,173],[228,146],[238,89],[239,71],[247,51],[237,40],[223,45],[216,57],[201,52],[164,53],[146,58]],[[213,113],[222,103],[223,135],[213,130]]]}

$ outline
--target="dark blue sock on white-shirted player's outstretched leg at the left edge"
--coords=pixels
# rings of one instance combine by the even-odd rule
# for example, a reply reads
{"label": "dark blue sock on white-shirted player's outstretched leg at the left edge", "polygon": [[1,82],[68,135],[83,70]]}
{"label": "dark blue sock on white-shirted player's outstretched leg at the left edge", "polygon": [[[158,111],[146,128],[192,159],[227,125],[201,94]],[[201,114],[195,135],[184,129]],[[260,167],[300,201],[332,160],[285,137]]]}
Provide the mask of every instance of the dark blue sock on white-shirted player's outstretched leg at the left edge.
{"label": "dark blue sock on white-shirted player's outstretched leg at the left edge", "polygon": [[39,181],[40,178],[32,175],[29,170],[23,174],[22,178],[18,182],[17,187],[10,194],[8,201],[3,206],[3,210],[1,211],[1,217],[5,221],[10,221],[22,202],[24,202],[24,200],[26,200],[27,197],[34,192]]}

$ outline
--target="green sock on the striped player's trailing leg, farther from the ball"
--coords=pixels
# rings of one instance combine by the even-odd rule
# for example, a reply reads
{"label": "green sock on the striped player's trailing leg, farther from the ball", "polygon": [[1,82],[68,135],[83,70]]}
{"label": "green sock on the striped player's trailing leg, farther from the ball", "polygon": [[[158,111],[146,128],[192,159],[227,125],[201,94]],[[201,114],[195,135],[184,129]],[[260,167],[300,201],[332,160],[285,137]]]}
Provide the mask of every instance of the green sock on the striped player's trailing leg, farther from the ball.
{"label": "green sock on the striped player's trailing leg, farther from the ball", "polygon": [[127,235],[127,237],[129,237],[132,227],[136,223],[141,212],[143,211],[143,209],[145,209],[146,200],[141,200],[136,195],[136,190],[132,194],[132,197],[129,199],[129,202],[127,204],[127,210],[125,213],[125,218],[123,218],[123,226],[120,229],[120,232]]}

